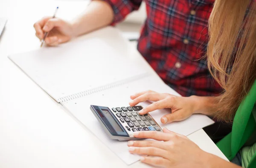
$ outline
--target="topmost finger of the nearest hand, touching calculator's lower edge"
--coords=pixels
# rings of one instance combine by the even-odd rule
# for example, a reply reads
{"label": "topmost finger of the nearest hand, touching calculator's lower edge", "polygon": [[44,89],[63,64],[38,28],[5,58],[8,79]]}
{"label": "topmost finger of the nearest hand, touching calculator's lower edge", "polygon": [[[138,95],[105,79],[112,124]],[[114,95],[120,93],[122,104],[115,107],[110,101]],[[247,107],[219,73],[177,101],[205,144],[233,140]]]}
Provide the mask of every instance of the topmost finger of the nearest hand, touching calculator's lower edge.
{"label": "topmost finger of the nearest hand, touching calculator's lower edge", "polygon": [[134,132],[134,137],[137,138],[150,138],[154,140],[163,140],[168,141],[170,140],[170,134],[166,134],[163,132],[157,132],[157,131],[142,131],[142,132]]}

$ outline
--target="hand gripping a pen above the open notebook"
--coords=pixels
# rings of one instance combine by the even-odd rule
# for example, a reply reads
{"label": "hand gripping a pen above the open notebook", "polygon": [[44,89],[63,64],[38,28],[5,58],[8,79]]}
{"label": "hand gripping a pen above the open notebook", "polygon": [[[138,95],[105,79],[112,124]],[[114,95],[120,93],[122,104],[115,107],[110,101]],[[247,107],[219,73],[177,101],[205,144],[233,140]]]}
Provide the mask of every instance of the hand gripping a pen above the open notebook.
{"label": "hand gripping a pen above the open notebook", "polygon": [[56,46],[60,43],[67,42],[71,39],[73,34],[72,25],[64,20],[45,17],[34,24],[35,35],[40,39],[44,39],[44,33],[49,32],[45,39],[45,44],[49,46]]}

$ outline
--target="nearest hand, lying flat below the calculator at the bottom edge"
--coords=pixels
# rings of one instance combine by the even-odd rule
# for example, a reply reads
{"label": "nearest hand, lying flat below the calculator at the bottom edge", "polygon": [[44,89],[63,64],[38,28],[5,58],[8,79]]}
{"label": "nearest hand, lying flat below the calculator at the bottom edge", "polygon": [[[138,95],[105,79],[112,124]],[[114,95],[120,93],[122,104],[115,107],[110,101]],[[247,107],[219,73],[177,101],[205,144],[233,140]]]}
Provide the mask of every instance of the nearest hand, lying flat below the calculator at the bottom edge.
{"label": "nearest hand, lying flat below the calculator at the bottom edge", "polygon": [[[164,132],[164,133],[163,133]],[[131,154],[148,155],[141,161],[149,165],[172,168],[205,168],[211,154],[201,150],[186,136],[164,128],[163,132],[134,132],[134,137],[150,138],[157,141],[129,141]],[[156,156],[156,157],[152,157]]]}

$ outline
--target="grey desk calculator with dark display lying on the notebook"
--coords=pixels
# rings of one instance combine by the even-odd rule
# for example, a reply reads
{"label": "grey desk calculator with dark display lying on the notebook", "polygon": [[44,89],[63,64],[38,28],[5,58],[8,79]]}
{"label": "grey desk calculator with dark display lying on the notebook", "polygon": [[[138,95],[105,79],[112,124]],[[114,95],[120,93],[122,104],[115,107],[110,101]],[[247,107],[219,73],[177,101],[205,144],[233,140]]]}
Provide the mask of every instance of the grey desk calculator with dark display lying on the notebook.
{"label": "grey desk calculator with dark display lying on the notebook", "polygon": [[133,132],[137,131],[163,132],[151,115],[139,114],[139,111],[143,109],[142,106],[113,107],[110,109],[91,105],[90,109],[111,139],[133,140],[136,139]]}

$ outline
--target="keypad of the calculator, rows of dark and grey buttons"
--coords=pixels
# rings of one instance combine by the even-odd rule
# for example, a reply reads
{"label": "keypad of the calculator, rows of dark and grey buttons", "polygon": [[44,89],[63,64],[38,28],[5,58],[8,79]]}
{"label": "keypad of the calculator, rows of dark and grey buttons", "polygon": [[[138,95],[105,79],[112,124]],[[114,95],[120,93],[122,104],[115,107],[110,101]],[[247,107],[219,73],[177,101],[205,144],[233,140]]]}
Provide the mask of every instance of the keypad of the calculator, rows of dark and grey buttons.
{"label": "keypad of the calculator, rows of dark and grey buttons", "polygon": [[112,111],[116,113],[116,116],[126,125],[125,128],[129,132],[136,131],[161,131],[160,127],[152,120],[148,114],[140,115],[138,111],[143,109],[142,106],[133,107],[116,107],[112,108]]}

